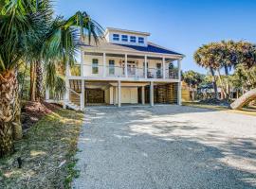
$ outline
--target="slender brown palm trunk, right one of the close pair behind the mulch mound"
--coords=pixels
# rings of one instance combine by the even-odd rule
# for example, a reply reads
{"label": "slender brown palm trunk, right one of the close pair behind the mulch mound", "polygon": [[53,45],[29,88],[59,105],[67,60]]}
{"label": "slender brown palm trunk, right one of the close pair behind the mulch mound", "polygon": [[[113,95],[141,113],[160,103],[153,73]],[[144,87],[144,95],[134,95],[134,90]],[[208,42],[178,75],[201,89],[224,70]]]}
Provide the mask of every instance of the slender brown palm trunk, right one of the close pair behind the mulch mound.
{"label": "slender brown palm trunk, right one of the close pair behind the mulch mound", "polygon": [[42,100],[42,93],[43,93],[43,73],[41,67],[41,61],[36,61],[36,101]]}

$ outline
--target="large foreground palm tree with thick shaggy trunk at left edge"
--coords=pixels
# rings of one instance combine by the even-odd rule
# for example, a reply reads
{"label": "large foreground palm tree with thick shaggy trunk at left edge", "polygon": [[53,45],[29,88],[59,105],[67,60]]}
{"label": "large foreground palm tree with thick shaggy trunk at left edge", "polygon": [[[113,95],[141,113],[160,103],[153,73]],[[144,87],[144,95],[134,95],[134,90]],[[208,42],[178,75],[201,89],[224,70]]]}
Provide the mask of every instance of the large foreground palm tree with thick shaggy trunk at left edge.
{"label": "large foreground palm tree with thick shaggy trunk at left edge", "polygon": [[14,136],[22,137],[16,70],[28,54],[28,43],[37,38],[37,15],[27,13],[27,1],[1,1],[0,17],[0,157],[13,150]]}

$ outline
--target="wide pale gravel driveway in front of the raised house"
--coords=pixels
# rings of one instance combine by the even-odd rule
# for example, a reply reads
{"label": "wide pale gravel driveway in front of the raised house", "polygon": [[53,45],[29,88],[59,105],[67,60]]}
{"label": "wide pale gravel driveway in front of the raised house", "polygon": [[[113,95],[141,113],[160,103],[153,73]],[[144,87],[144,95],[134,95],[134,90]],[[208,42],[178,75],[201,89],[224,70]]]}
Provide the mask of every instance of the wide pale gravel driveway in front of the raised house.
{"label": "wide pale gravel driveway in front of the raised house", "polygon": [[256,188],[256,117],[155,106],[90,108],[77,189]]}

